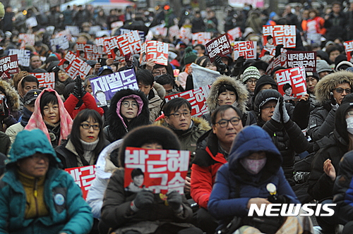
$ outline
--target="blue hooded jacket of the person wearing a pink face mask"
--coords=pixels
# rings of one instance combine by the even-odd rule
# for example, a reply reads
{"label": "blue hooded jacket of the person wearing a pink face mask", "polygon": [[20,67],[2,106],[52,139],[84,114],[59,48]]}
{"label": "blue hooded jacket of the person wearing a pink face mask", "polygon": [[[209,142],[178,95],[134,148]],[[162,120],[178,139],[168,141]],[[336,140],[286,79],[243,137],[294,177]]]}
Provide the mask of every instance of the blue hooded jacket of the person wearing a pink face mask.
{"label": "blue hooded jacket of the person wearing a pink face mask", "polygon": [[[239,160],[261,151],[266,153],[267,161],[264,168],[253,175],[241,166]],[[299,203],[285,179],[281,164],[281,154],[265,130],[255,125],[241,130],[234,139],[228,163],[217,171],[208,202],[210,214],[223,222],[234,216],[247,216],[249,199],[270,195],[266,190],[268,183],[277,187],[277,195],[286,195],[291,203]]]}

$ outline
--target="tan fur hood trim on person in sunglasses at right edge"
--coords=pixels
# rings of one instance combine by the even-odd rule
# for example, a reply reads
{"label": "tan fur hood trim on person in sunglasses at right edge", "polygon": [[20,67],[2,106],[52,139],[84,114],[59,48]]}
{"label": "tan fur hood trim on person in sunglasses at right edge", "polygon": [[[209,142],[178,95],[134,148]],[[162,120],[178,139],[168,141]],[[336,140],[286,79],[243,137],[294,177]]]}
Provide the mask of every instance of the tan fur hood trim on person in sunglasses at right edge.
{"label": "tan fur hood trim on person in sunglasses at right edge", "polygon": [[335,73],[325,75],[325,77],[321,78],[321,80],[316,84],[316,100],[320,104],[330,100],[330,92],[332,92],[337,85],[342,84],[342,82],[347,82],[351,87],[353,87],[353,73],[347,70],[340,70]]}

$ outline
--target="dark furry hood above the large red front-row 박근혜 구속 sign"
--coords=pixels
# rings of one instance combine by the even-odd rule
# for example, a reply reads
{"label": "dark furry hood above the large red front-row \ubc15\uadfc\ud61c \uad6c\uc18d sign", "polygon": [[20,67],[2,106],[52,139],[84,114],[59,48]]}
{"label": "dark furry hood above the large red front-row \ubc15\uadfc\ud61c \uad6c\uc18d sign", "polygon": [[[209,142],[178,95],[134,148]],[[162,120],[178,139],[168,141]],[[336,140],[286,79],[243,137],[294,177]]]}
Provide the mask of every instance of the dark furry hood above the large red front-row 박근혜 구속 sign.
{"label": "dark furry hood above the large red front-row \ubc15\uadfc\ud61c \uad6c\uc18d sign", "polygon": [[157,125],[147,125],[131,130],[125,137],[119,149],[119,166],[125,167],[126,147],[141,147],[143,144],[158,143],[162,149],[180,150],[180,142],[172,130]]}

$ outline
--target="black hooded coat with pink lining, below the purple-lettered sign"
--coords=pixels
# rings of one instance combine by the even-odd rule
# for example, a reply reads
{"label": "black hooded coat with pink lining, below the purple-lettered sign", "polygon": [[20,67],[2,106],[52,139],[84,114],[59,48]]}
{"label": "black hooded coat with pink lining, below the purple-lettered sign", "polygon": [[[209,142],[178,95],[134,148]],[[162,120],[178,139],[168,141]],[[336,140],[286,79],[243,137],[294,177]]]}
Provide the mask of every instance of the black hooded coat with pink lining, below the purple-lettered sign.
{"label": "black hooded coat with pink lining, below the purple-lettered sign", "polygon": [[[130,122],[126,120],[123,116],[121,119],[116,113],[116,104],[120,99],[128,95],[137,95],[142,99],[143,106],[141,109],[141,113],[133,118]],[[123,122],[124,121],[124,122]],[[109,142],[114,142],[116,140],[121,139],[128,133],[128,131],[142,125],[148,125],[150,123],[150,111],[148,110],[148,99],[140,90],[119,90],[114,94],[110,101],[110,107],[108,111],[108,126],[104,128],[104,134]],[[125,126],[126,125],[126,126]]]}

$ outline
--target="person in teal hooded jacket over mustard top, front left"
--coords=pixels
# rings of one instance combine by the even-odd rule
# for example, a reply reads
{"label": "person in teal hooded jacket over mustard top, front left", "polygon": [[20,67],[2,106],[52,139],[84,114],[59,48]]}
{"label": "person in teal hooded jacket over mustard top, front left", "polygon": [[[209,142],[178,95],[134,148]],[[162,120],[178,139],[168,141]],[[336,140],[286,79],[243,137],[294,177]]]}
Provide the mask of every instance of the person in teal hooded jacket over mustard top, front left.
{"label": "person in teal hooded jacket over mustard top, front left", "polygon": [[0,233],[90,232],[90,207],[60,164],[41,130],[18,133],[0,180]]}

